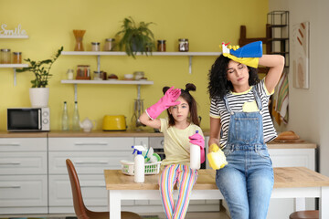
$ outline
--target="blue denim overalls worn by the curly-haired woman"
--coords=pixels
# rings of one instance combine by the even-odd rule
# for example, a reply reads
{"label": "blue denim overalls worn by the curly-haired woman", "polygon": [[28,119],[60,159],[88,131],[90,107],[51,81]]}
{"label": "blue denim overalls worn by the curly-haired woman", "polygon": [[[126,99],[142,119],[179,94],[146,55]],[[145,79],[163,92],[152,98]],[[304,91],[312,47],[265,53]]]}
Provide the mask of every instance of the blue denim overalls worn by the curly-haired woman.
{"label": "blue denim overalls worn by the curly-haired woman", "polygon": [[[252,92],[259,110],[260,95]],[[216,183],[232,219],[266,219],[274,183],[271,159],[263,140],[260,111],[230,113],[228,142],[223,149],[228,165],[217,171]]]}

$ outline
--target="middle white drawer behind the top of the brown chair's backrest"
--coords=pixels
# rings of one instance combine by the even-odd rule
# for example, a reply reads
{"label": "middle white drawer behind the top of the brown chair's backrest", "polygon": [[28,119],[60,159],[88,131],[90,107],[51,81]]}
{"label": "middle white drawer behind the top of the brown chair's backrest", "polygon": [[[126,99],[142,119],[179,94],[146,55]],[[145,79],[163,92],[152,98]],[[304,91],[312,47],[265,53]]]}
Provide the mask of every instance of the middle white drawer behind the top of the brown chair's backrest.
{"label": "middle white drawer behind the top of the brown chair's backrest", "polygon": [[49,174],[67,174],[69,158],[80,174],[103,174],[105,169],[121,169],[122,160],[133,161],[132,151],[51,151],[48,153]]}

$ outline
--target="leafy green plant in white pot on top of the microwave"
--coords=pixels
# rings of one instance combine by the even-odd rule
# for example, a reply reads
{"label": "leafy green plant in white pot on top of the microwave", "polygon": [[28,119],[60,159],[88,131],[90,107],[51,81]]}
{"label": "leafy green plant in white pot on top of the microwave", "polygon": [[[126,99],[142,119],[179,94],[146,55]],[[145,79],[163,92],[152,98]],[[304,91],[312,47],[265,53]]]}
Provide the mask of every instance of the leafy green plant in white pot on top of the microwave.
{"label": "leafy green plant in white pot on top of the microwave", "polygon": [[63,47],[60,47],[54,57],[38,62],[32,61],[29,58],[24,59],[30,66],[27,68],[16,69],[17,72],[31,71],[35,75],[35,79],[31,80],[32,88],[29,89],[32,107],[48,107],[49,89],[46,87],[48,86],[48,79],[52,76],[49,73],[50,68],[58,59],[62,51]]}

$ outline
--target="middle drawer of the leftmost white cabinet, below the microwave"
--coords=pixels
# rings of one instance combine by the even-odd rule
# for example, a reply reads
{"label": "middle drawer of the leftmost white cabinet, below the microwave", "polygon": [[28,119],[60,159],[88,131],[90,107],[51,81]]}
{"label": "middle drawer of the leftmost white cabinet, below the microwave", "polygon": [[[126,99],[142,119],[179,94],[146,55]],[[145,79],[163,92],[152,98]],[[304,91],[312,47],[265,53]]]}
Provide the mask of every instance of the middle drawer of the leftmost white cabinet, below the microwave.
{"label": "middle drawer of the leftmost white cabinet, below the microwave", "polygon": [[47,174],[47,152],[1,152],[0,174]]}

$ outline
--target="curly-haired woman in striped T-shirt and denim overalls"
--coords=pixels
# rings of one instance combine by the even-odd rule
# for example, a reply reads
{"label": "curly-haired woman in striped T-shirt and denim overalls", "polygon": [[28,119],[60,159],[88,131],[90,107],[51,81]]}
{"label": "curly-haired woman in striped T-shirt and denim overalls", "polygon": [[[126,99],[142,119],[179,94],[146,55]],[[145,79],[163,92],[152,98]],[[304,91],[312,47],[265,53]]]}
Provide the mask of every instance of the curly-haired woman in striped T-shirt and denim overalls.
{"label": "curly-haired woman in striped T-shirt and denim overalls", "polygon": [[232,219],[265,219],[274,182],[266,143],[277,136],[268,104],[284,57],[259,58],[261,66],[270,68],[261,81],[257,67],[247,66],[244,58],[228,57],[218,57],[208,74],[209,145],[218,144],[228,161],[217,171],[216,183]]}

